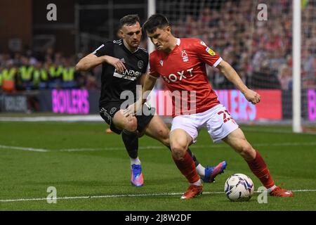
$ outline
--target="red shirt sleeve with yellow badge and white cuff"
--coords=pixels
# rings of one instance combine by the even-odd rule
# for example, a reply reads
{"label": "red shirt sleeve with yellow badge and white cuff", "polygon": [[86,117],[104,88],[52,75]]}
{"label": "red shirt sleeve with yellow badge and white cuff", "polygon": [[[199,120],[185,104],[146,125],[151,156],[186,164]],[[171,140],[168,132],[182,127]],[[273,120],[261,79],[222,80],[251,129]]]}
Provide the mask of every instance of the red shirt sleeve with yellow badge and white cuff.
{"label": "red shirt sleeve with yellow badge and white cuff", "polygon": [[216,66],[223,60],[222,58],[220,58],[218,53],[213,51],[202,40],[198,40],[195,44],[195,47],[199,58],[201,58],[204,63],[207,63],[214,68],[216,68]]}

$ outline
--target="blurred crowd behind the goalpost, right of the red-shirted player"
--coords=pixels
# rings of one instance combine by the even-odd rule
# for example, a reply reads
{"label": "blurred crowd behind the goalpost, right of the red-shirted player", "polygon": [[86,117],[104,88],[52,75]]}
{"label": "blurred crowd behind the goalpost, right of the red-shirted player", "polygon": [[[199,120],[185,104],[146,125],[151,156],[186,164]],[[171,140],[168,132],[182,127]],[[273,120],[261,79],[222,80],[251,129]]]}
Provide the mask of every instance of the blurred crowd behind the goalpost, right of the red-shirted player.
{"label": "blurred crowd behind the goalpost, right of the red-shirted player", "polygon": [[[197,37],[220,53],[253,89],[291,89],[292,23],[289,0],[270,1],[268,18],[260,21],[254,1],[225,1],[198,16],[173,21],[176,37]],[[303,86],[316,86],[316,1],[302,12]],[[218,70],[209,68],[214,88],[233,89]]]}

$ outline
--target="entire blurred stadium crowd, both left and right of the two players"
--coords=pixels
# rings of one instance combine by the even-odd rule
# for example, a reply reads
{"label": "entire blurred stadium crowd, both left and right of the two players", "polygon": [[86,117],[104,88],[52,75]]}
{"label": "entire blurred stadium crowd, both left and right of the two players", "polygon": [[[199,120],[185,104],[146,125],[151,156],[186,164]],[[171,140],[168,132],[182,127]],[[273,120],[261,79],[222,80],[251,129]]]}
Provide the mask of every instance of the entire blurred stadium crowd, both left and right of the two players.
{"label": "entire blurred stadium crowd, both left and right of the two players", "polygon": [[[267,21],[256,18],[252,1],[238,2],[225,1],[218,8],[205,7],[198,16],[173,20],[173,34],[204,40],[252,89],[291,89],[291,1],[272,2]],[[310,2],[302,13],[305,88],[316,86],[316,1]],[[0,90],[100,89],[100,67],[77,73],[76,63],[76,56],[65,57],[53,49],[36,56],[31,50],[0,53]],[[208,68],[208,74],[215,89],[234,89],[218,70]]]}

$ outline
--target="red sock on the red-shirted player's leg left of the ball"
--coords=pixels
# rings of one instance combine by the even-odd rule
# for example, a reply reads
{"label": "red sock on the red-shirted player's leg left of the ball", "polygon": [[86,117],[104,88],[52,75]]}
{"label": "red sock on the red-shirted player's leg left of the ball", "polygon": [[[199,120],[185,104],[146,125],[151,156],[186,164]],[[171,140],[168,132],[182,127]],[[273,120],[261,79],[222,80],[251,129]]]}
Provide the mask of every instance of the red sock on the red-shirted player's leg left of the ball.
{"label": "red sock on the red-shirted player's leg left of the ball", "polygon": [[197,169],[195,169],[195,162],[189,153],[185,153],[182,160],[176,160],[173,158],[180,172],[185,176],[187,181],[190,183],[195,183],[199,181],[199,175],[197,174]]}

